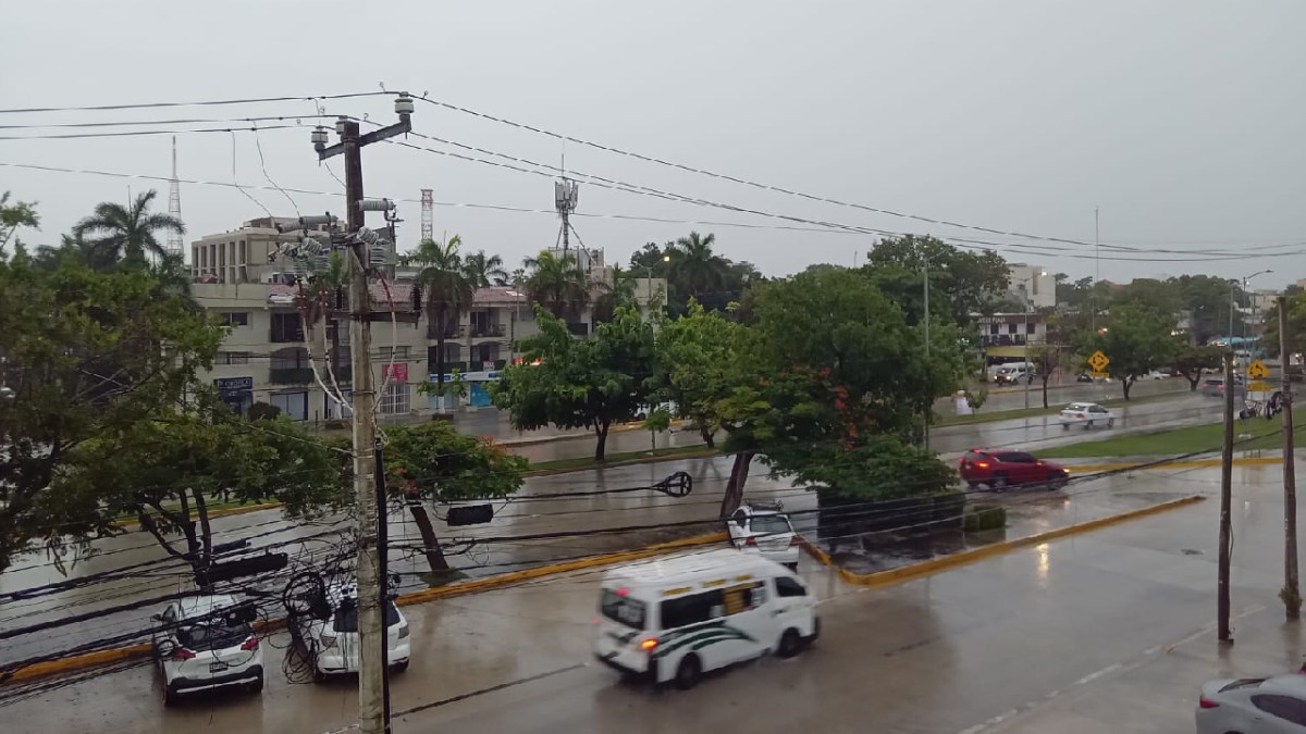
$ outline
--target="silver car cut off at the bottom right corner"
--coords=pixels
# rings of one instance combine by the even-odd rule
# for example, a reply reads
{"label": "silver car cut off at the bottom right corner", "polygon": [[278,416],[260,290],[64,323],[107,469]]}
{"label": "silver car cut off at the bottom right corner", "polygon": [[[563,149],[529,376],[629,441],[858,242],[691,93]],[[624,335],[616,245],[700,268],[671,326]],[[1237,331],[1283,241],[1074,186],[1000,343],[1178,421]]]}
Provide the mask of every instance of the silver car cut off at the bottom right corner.
{"label": "silver car cut off at the bottom right corner", "polygon": [[1306,675],[1212,680],[1196,720],[1198,734],[1306,734]]}

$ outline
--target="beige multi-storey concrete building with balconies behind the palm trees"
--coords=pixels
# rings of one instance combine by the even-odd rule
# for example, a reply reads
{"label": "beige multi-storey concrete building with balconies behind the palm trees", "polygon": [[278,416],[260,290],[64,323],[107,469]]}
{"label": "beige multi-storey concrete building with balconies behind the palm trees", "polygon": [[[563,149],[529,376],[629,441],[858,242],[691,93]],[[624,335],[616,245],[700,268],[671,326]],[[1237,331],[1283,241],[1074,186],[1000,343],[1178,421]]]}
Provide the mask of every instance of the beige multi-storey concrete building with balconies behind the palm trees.
{"label": "beige multi-storey concrete building with balconies behind the palm trees", "polygon": [[[213,370],[201,379],[212,381],[222,400],[239,411],[255,402],[266,402],[294,421],[346,418],[347,409],[328,398],[321,385],[330,385],[334,375],[341,392],[346,396],[350,392],[349,320],[343,312],[328,315],[325,323],[316,321],[306,333],[304,315],[298,303],[304,293],[302,287],[307,286],[299,285],[290,263],[276,257],[278,238],[285,239],[276,226],[293,222],[252,219],[238,230],[208,235],[192,243],[192,296],[231,327]],[[602,251],[594,252],[597,265],[602,268]],[[397,273],[393,272],[396,269]],[[377,401],[383,421],[428,414],[436,407],[436,398],[419,393],[417,388],[434,375],[438,334],[427,323],[424,310],[414,310],[415,270],[396,269],[392,269],[394,279],[387,283],[388,289],[380,282],[370,285],[372,310],[390,311],[393,304],[397,312],[393,323],[376,320],[372,324],[372,379],[380,391]],[[645,312],[646,294],[656,300],[666,290],[662,279],[636,285],[636,300]],[[347,311],[347,304],[341,306]],[[588,308],[571,328],[577,336],[593,332]],[[445,333],[445,371],[457,370],[492,379],[495,370],[517,355],[520,340],[535,333],[534,310],[524,290],[507,286],[481,289],[458,324]],[[453,407],[487,405],[483,389],[469,391],[466,401],[452,401]]]}

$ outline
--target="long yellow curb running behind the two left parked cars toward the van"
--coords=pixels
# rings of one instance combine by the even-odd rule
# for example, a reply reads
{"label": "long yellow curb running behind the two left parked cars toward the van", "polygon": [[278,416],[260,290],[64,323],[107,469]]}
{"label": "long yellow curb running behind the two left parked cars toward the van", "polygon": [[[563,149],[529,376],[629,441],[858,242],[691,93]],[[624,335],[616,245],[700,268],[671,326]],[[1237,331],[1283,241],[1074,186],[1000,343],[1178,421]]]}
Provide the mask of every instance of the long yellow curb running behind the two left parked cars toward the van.
{"label": "long yellow curb running behind the two left parked cars toward the van", "polygon": [[[243,509],[243,508],[234,508],[234,509]],[[704,535],[680,538],[678,541],[653,543],[650,546],[629,551],[599,554],[589,558],[579,558],[576,560],[569,560],[564,563],[538,566],[522,571],[500,573],[498,576],[475,579],[461,584],[449,584],[447,586],[436,586],[434,589],[423,589],[421,592],[402,594],[397,599],[394,599],[394,603],[397,603],[398,606],[411,606],[436,599],[462,597],[468,594],[488,592],[492,589],[500,589],[503,586],[511,586],[513,584],[521,584],[524,581],[543,579],[546,576],[556,576],[559,573],[568,573],[572,571],[584,571],[588,568],[599,568],[603,566],[613,566],[615,563],[624,563],[627,560],[640,560],[645,558],[653,558],[657,555],[666,555],[669,552],[675,552],[678,550],[717,543],[727,538],[729,535],[726,533],[708,533]],[[281,627],[285,627],[285,619],[281,618],[269,619],[265,623],[260,624],[259,631],[270,632]],[[0,688],[12,683],[39,680],[42,678],[63,675],[76,670],[98,667],[102,665],[110,665],[132,658],[145,657],[149,653],[150,653],[150,644],[138,643],[135,645],[127,645],[121,648],[111,648],[107,650],[97,650],[93,653],[85,653],[85,654],[33,663],[26,667],[20,667],[18,670],[14,670],[7,678],[4,677],[4,670],[0,669]]]}

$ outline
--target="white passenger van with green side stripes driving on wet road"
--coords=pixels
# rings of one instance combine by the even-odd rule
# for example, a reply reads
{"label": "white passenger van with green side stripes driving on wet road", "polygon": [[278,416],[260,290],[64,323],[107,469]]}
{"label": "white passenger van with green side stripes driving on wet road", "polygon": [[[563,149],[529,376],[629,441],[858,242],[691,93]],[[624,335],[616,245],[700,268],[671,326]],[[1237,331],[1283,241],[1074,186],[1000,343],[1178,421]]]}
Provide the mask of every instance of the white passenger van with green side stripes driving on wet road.
{"label": "white passenger van with green side stripes driving on wet road", "polygon": [[737,550],[603,575],[594,656],[632,678],[692,688],[708,671],[797,654],[820,632],[815,599],[784,566]]}

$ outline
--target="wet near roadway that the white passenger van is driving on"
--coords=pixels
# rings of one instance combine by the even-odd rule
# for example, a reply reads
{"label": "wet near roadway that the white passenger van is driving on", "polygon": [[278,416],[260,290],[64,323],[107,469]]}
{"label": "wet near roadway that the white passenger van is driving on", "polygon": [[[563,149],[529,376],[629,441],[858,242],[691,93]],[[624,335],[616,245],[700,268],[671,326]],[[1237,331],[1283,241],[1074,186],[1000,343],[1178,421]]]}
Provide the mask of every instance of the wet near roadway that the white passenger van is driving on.
{"label": "wet near roadway that the white passenger van is driving on", "polygon": [[[1235,613],[1275,603],[1279,475],[1277,466],[1237,470]],[[1149,471],[1131,482],[1097,488],[1209,495],[1218,470]],[[590,661],[596,573],[407,607],[418,653],[393,680],[394,709],[422,710],[401,713],[394,730],[980,734],[1016,722],[1003,717],[1021,710],[1038,717],[1021,731],[1191,730],[1192,682],[1217,674],[1217,662],[1190,661],[1164,694],[1096,700],[1094,713],[1106,717],[1096,727],[1072,726],[1084,721],[1080,707],[1055,703],[1077,691],[1092,700],[1085,687],[1094,680],[1213,635],[1204,630],[1215,615],[1216,513],[1217,503],[1199,503],[878,590],[846,586],[804,559],[821,597],[816,648],[710,677],[691,692],[623,684]],[[1271,633],[1282,660],[1299,660],[1297,631]],[[277,660],[273,644],[265,652]],[[269,667],[261,696],[163,709],[157,675],[142,666],[3,707],[0,730],[279,733],[353,721],[354,682],[290,686]]]}

